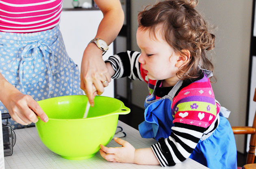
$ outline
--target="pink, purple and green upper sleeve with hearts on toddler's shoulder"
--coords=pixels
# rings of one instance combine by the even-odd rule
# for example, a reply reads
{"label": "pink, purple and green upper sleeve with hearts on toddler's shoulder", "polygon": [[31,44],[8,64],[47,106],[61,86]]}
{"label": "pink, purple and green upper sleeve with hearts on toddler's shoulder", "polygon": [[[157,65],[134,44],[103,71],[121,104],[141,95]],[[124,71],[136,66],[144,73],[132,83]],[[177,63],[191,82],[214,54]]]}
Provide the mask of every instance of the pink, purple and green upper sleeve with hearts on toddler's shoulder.
{"label": "pink, purple and green upper sleeve with hearts on toddler's shoulder", "polygon": [[[210,80],[204,76],[180,90],[172,104],[174,122],[208,127],[217,115]],[[193,123],[193,124],[192,124]]]}

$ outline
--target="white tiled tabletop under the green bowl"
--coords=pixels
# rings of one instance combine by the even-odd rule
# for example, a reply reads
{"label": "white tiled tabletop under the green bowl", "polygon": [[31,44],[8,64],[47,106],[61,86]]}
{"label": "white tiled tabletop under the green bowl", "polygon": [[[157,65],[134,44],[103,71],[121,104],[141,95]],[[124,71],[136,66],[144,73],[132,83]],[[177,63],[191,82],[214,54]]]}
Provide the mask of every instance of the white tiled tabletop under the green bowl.
{"label": "white tiled tabletop under the green bowl", "polygon": [[[154,139],[143,139],[139,131],[118,121],[118,125],[123,128],[127,134],[122,139],[130,142],[135,148],[146,148],[156,143]],[[95,156],[85,160],[67,160],[50,151],[41,142],[37,129],[30,127],[26,129],[15,130],[16,144],[13,147],[13,155],[5,156],[4,163],[6,169],[156,169],[162,168],[160,165],[137,165],[128,163],[113,163],[108,162],[100,156],[98,152]],[[116,147],[119,144],[112,141],[107,145],[108,147]],[[204,165],[188,158],[182,163],[178,163],[172,167],[165,167],[170,169],[207,169]]]}

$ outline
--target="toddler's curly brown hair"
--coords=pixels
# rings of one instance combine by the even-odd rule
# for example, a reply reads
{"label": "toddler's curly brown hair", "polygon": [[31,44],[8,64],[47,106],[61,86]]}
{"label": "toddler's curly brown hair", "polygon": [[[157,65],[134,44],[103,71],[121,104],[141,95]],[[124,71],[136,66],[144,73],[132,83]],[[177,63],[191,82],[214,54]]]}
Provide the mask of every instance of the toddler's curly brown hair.
{"label": "toddler's curly brown hair", "polygon": [[156,27],[161,24],[163,38],[176,53],[187,49],[189,62],[177,72],[183,80],[197,78],[201,68],[213,71],[213,64],[206,51],[214,48],[215,35],[208,32],[208,24],[195,10],[197,0],[165,0],[147,6],[138,15],[139,27],[149,29],[156,36]]}

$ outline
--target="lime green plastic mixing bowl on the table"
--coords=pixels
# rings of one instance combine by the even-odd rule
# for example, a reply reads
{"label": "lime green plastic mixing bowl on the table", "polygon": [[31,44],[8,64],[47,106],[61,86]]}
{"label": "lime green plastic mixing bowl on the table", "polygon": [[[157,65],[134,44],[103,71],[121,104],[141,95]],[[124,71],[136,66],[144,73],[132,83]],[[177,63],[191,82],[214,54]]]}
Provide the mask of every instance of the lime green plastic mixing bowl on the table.
{"label": "lime green plastic mixing bowl on the table", "polygon": [[49,121],[44,123],[39,118],[35,125],[41,141],[52,152],[70,160],[94,156],[100,144],[106,146],[113,138],[118,115],[130,112],[118,99],[96,96],[95,106],[83,118],[87,101],[86,95],[38,101]]}

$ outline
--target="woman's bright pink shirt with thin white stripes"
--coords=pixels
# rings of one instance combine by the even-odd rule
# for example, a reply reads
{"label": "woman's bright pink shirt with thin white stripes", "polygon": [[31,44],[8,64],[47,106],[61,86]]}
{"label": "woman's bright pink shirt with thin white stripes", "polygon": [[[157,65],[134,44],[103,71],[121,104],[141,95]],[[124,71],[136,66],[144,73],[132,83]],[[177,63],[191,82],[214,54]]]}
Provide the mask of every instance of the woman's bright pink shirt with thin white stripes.
{"label": "woman's bright pink shirt with thin white stripes", "polygon": [[49,30],[60,22],[63,0],[0,0],[0,31]]}

